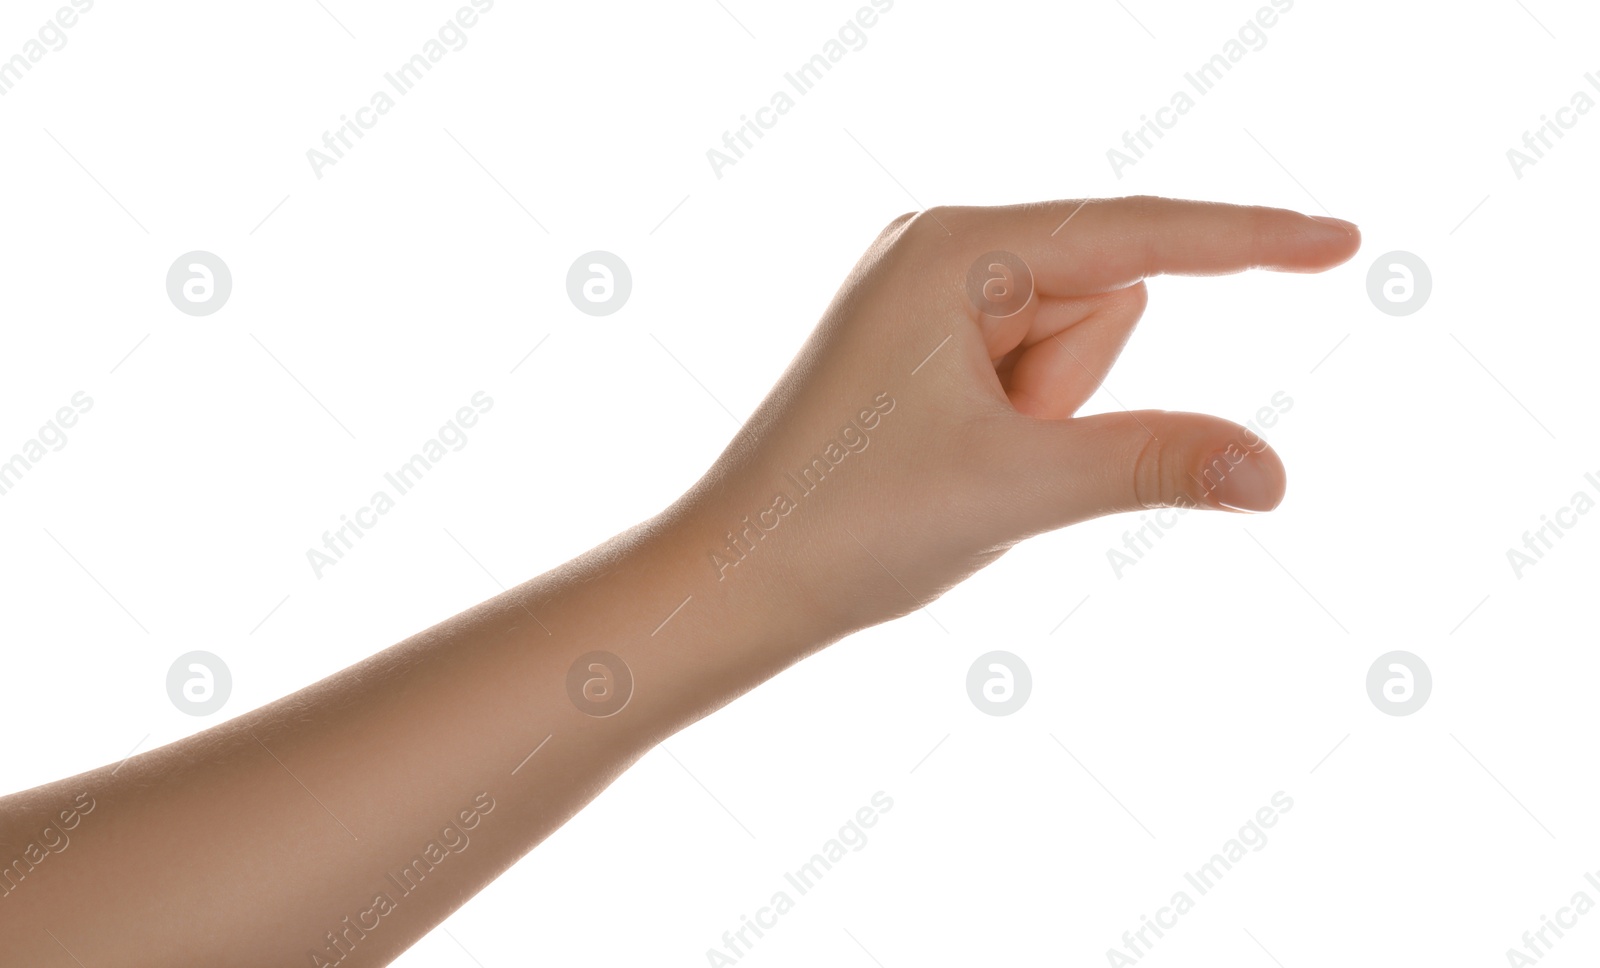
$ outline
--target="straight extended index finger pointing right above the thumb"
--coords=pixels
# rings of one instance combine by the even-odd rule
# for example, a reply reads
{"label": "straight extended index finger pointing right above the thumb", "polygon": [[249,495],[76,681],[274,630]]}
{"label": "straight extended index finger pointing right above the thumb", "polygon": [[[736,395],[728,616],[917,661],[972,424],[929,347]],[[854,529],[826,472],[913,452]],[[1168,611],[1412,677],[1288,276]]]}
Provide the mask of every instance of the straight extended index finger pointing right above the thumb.
{"label": "straight extended index finger pointing right above the thumb", "polygon": [[974,251],[1016,253],[1045,296],[1082,296],[1162,274],[1322,272],[1360,230],[1286,208],[1133,195],[954,210],[941,221]]}

